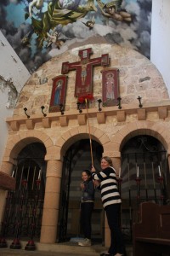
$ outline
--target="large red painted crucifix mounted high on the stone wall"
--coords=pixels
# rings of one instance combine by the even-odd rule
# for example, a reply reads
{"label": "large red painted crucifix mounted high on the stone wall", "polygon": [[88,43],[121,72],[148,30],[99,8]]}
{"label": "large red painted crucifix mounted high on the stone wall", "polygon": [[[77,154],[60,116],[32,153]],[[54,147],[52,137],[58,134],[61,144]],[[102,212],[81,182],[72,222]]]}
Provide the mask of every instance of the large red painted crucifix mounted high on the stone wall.
{"label": "large red painted crucifix mounted high on the stone wall", "polygon": [[92,78],[93,78],[93,67],[94,66],[109,66],[109,55],[101,55],[98,58],[90,59],[92,49],[81,49],[78,52],[80,61],[72,62],[69,61],[62,63],[61,73],[69,73],[71,70],[76,70],[76,83],[75,83],[75,96],[87,96],[92,95]]}

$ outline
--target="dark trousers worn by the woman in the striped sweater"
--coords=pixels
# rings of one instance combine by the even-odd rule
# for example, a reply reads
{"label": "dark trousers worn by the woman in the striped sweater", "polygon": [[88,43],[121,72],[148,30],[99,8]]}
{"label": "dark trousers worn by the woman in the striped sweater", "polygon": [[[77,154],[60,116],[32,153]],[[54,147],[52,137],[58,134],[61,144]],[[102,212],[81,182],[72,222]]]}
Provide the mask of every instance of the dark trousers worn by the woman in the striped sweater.
{"label": "dark trousers worn by the woman in the striped sweater", "polygon": [[108,253],[115,255],[116,253],[125,253],[125,246],[122,231],[119,226],[119,214],[121,204],[113,204],[105,207],[105,213],[109,228],[111,230],[111,247]]}

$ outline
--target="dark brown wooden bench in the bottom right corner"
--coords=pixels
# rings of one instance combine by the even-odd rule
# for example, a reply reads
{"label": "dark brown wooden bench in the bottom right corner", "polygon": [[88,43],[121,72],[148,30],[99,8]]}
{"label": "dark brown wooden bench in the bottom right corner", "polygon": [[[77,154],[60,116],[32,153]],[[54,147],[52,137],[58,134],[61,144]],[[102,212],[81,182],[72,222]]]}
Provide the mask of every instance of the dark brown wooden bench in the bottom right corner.
{"label": "dark brown wooden bench in the bottom right corner", "polygon": [[140,205],[141,221],[133,224],[133,256],[170,255],[170,206]]}

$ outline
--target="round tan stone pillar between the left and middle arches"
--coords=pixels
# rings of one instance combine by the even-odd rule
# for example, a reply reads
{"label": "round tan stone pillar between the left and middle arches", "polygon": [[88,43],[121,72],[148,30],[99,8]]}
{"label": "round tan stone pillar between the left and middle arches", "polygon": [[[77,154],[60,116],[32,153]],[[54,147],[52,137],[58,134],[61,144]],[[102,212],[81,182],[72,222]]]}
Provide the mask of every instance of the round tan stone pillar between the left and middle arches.
{"label": "round tan stone pillar between the left and middle arches", "polygon": [[62,162],[48,160],[40,242],[56,241]]}

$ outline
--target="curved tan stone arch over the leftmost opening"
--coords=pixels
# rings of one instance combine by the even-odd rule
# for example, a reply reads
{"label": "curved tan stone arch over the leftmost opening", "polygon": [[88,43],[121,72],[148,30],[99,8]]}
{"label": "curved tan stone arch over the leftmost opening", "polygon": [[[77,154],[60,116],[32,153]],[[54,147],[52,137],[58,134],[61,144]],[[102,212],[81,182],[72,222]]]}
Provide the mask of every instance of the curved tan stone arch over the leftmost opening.
{"label": "curved tan stone arch over the leftmost opening", "polygon": [[51,138],[42,131],[21,131],[18,135],[15,134],[8,139],[3,155],[3,162],[14,162],[14,158],[17,157],[20,150],[30,143],[43,143],[47,154],[51,154],[52,151],[54,153],[54,143]]}

